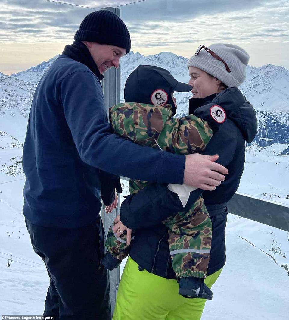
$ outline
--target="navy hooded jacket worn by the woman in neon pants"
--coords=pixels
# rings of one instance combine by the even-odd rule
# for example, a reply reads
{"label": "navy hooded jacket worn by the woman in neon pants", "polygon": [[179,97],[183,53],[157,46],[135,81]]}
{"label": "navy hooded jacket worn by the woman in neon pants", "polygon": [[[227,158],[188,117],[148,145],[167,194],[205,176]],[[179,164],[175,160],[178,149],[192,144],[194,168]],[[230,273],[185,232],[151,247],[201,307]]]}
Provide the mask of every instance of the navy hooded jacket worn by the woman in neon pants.
{"label": "navy hooded jacket worn by the woman in neon pants", "polygon": [[[252,105],[237,88],[228,88],[218,95],[189,101],[189,112],[202,118],[213,105],[220,105],[227,114],[227,121],[207,144],[203,154],[218,154],[218,163],[226,166],[226,180],[214,191],[203,192],[210,214],[213,233],[208,275],[225,264],[225,227],[228,209],[226,202],[236,192],[245,163],[245,140],[251,142],[257,132],[257,119]],[[191,192],[185,208],[167,185],[152,184],[135,195],[127,196],[121,205],[122,223],[135,230],[130,256],[140,269],[168,279],[175,279],[168,247],[168,231],[161,221],[175,212],[188,209],[201,194]]]}

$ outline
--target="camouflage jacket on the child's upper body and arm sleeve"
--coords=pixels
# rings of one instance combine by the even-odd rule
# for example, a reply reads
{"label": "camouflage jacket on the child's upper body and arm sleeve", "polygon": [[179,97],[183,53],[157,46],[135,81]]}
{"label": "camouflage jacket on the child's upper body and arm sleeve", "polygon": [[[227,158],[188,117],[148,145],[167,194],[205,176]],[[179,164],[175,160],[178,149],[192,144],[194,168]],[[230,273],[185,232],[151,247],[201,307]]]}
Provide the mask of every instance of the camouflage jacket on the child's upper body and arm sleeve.
{"label": "camouflage jacket on the child's upper body and arm sleeve", "polygon": [[[113,131],[125,139],[141,146],[151,146],[176,154],[191,154],[204,150],[210,141],[213,130],[220,124],[211,116],[206,120],[195,115],[171,118],[170,104],[153,106],[142,103],[120,103],[109,109],[109,119]],[[144,188],[146,183],[130,180],[130,193]]]}

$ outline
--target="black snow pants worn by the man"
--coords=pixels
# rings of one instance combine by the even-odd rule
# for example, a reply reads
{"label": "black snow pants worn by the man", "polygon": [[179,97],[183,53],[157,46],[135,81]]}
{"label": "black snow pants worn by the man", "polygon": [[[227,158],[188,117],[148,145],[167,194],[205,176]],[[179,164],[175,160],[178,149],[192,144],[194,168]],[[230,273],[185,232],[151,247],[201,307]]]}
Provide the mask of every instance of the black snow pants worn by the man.
{"label": "black snow pants worn by the man", "polygon": [[54,320],[110,320],[109,274],[101,267],[100,216],[82,228],[46,228],[25,220],[34,251],[50,277],[43,316]]}

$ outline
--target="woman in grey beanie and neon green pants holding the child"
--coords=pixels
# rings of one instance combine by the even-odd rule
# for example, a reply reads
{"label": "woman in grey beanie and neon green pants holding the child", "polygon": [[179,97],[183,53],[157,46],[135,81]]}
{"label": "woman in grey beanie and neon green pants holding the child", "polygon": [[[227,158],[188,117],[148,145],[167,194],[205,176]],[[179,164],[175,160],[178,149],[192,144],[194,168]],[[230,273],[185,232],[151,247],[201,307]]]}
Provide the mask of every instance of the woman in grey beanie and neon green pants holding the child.
{"label": "woman in grey beanie and neon green pants holding the child", "polygon": [[[245,140],[251,142],[257,132],[254,108],[237,88],[231,88],[245,80],[248,60],[248,54],[238,46],[213,44],[201,45],[188,62],[189,84],[194,94],[189,101],[189,113],[200,118],[210,114],[218,122],[222,121],[222,106],[227,114],[226,123],[213,135],[204,152],[218,154],[218,162],[229,170],[226,180],[215,191],[203,192],[213,225],[205,279],[209,288],[225,264],[227,202],[236,192],[244,169]],[[169,191],[163,190],[152,185],[129,196],[121,206],[120,219],[116,219],[114,231],[130,228],[135,230],[135,238],[121,277],[115,320],[191,320],[200,319],[202,315],[205,299],[186,299],[178,295],[168,232],[161,224],[172,213],[169,208],[174,206],[174,200]]]}

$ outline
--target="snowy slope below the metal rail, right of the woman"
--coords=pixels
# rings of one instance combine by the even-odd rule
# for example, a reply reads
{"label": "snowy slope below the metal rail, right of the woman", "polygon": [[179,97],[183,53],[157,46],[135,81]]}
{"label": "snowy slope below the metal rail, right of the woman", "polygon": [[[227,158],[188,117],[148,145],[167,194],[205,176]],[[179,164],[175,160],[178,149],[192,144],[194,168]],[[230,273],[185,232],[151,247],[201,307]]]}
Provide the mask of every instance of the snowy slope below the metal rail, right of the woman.
{"label": "snowy slope below the metal rail, right of the woman", "polygon": [[[288,319],[289,277],[280,267],[288,264],[288,236],[288,232],[229,214],[227,263],[202,319]],[[287,258],[275,255],[279,265],[269,256],[272,246],[287,253]]]}

